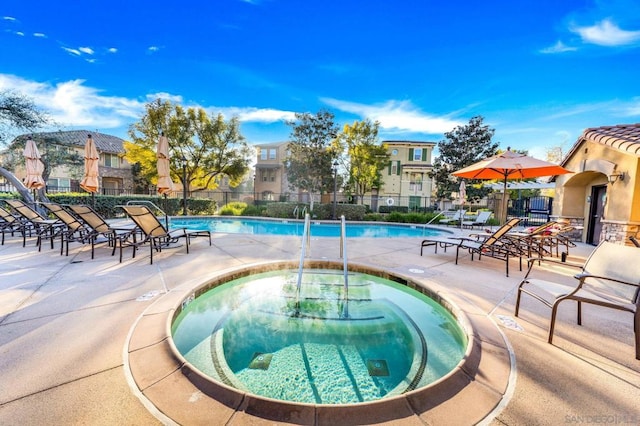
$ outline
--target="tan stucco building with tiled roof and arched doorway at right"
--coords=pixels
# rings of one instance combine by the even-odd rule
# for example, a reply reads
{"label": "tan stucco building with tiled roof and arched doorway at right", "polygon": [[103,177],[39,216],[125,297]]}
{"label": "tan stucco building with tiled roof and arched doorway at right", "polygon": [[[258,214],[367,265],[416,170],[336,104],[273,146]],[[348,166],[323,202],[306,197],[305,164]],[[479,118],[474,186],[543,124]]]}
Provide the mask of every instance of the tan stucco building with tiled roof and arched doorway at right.
{"label": "tan stucco building with tiled roof and arched doorway at right", "polygon": [[561,165],[573,173],[555,178],[554,213],[583,242],[640,237],[640,123],[586,129]]}

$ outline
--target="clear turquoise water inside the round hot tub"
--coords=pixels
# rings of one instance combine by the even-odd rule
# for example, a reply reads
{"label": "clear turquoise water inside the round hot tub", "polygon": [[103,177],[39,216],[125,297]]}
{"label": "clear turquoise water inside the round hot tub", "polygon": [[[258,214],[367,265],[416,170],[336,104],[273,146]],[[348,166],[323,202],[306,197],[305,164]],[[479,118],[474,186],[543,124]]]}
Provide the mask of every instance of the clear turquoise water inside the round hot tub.
{"label": "clear turquoise water inside the round hot tub", "polygon": [[345,404],[408,392],[462,359],[451,313],[393,281],[339,270],[265,272],[184,304],[172,325],[184,358],[214,380],[279,400]]}

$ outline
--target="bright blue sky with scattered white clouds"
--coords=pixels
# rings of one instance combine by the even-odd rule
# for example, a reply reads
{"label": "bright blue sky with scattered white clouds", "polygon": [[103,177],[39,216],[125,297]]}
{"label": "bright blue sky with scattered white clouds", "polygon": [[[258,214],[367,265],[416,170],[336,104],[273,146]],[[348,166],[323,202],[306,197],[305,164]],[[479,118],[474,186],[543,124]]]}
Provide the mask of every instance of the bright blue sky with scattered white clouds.
{"label": "bright blue sky with scattered white clouds", "polygon": [[287,140],[295,112],[433,142],[482,115],[544,158],[640,122],[640,2],[3,0],[0,64],[56,129],[127,139],[158,97],[237,116],[250,143]]}

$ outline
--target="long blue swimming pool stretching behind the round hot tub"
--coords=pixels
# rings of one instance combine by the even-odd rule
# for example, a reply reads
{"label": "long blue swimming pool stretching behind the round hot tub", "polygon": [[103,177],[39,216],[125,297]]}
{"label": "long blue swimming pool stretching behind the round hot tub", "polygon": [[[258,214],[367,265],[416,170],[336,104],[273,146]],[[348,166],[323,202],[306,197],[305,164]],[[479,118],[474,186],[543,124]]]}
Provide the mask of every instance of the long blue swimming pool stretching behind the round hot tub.
{"label": "long blue swimming pool stretching behind the round hot tub", "polygon": [[[304,222],[256,218],[186,217],[171,218],[171,228],[208,229],[225,234],[289,235],[302,236]],[[390,224],[380,222],[348,222],[347,237],[397,238],[432,237],[448,231],[424,225]],[[312,237],[339,237],[340,225],[336,222],[311,222]]]}

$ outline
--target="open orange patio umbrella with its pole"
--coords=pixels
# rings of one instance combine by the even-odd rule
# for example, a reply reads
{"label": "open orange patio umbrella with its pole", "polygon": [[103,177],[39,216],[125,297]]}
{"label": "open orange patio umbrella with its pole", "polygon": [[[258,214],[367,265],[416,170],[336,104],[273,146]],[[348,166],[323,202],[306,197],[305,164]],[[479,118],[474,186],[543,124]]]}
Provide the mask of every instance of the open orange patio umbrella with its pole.
{"label": "open orange patio umbrella with its pole", "polygon": [[565,173],[573,172],[557,164],[538,160],[525,154],[513,152],[510,148],[507,148],[505,152],[453,172],[453,175],[465,179],[495,179],[503,181],[504,195],[502,197],[501,223],[505,223],[507,219],[507,181],[509,179],[556,176]]}

